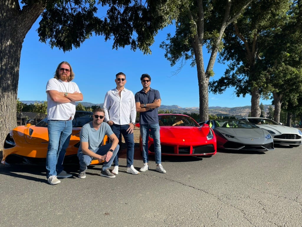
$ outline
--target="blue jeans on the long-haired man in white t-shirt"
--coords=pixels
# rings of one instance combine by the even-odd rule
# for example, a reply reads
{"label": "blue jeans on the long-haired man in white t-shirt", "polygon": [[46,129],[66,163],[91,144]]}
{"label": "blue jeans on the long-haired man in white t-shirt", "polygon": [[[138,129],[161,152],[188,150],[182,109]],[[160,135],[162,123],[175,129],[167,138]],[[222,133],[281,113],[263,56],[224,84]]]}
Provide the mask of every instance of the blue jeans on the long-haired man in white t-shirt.
{"label": "blue jeans on the long-haired man in white t-shirt", "polygon": [[63,171],[63,160],[72,133],[72,120],[48,121],[47,178]]}

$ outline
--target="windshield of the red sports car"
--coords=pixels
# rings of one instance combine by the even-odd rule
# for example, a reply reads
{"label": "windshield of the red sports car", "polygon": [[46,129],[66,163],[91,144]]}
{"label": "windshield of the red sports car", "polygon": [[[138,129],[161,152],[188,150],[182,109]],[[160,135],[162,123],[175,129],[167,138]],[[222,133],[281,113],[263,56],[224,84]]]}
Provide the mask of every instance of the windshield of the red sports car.
{"label": "windshield of the red sports car", "polygon": [[159,126],[196,126],[198,123],[193,118],[184,115],[162,115],[158,116]]}

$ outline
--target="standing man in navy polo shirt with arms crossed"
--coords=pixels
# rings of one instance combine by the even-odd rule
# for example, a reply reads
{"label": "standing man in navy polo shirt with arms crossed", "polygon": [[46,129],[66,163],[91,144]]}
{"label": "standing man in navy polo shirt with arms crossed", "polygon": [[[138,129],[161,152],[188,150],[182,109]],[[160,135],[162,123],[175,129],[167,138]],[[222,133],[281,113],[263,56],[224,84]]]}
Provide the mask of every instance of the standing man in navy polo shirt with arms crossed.
{"label": "standing man in navy polo shirt with arms crossed", "polygon": [[143,89],[135,94],[136,111],[140,113],[140,135],[142,138],[143,162],[144,165],[140,168],[141,172],[149,169],[148,165],[148,137],[149,130],[151,131],[154,141],[155,162],[157,164],[156,171],[166,173],[162,167],[161,161],[161,146],[158,123],[158,110],[160,107],[161,98],[158,90],[150,87],[151,77],[148,74],[143,74],[140,77]]}

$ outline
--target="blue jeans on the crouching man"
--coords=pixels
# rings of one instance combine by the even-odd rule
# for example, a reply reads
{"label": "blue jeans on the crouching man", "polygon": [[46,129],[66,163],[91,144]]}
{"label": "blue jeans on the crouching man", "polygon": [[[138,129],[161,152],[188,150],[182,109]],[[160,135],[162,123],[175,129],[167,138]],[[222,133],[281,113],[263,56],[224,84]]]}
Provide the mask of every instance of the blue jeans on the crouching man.
{"label": "blue jeans on the crouching man", "polygon": [[[93,152],[96,154],[99,154],[99,155],[105,155],[105,154],[107,154],[110,147],[111,147],[111,143],[107,143],[103,146],[98,147]],[[117,144],[117,147],[114,149],[109,162],[103,163],[102,170],[108,169],[111,166],[113,159],[116,156],[119,148],[120,148],[120,146]],[[79,161],[80,161],[80,172],[85,171],[87,169],[87,166],[90,165],[90,163],[92,161],[92,157],[90,157],[89,155],[83,154],[82,152],[78,153],[78,157],[79,157]]]}

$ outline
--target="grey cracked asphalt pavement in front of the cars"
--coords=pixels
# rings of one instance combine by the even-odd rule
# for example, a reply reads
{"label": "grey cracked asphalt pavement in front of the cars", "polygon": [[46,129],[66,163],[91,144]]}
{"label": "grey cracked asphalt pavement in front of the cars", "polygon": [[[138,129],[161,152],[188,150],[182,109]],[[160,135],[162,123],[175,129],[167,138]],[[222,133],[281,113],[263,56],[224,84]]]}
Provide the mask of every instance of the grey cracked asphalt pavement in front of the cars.
{"label": "grey cracked asphalt pavement in front of the cars", "polygon": [[[49,185],[44,166],[0,165],[0,226],[301,227],[302,146],[274,151],[218,152],[211,158],[162,157],[167,173],[116,178],[89,166],[77,177]],[[134,167],[143,162],[136,152]],[[111,167],[112,169],[112,167]]]}

